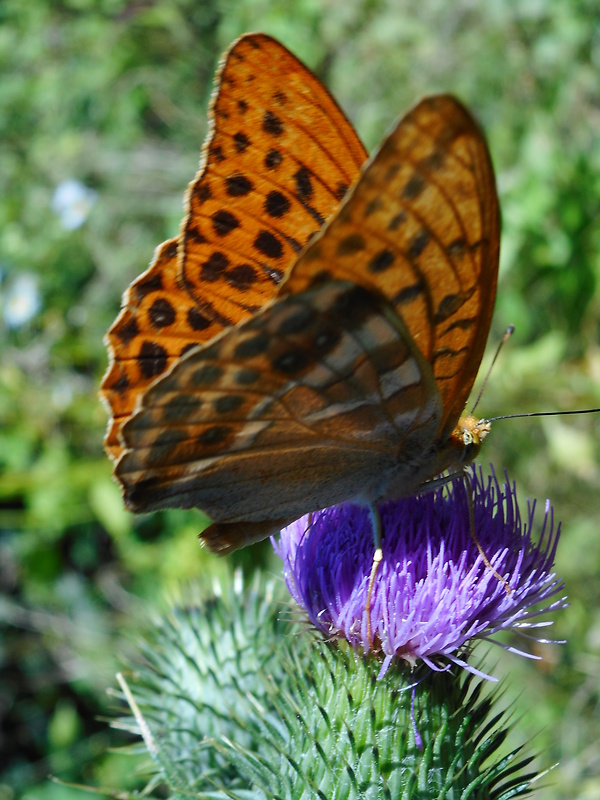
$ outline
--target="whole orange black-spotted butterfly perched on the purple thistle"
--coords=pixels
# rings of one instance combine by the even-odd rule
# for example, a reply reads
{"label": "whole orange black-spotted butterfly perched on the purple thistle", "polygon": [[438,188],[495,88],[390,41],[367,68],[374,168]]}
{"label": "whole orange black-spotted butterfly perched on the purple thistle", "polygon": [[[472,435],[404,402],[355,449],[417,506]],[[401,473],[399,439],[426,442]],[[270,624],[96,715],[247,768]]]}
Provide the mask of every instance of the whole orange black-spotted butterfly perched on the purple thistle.
{"label": "whole orange black-spotted butterfly perched on the purple thistle", "polygon": [[470,461],[499,207],[485,138],[421,100],[367,159],[264,34],[233,43],[179,237],[107,335],[105,446],[126,506],[198,507],[229,552],[317,509],[419,492]]}

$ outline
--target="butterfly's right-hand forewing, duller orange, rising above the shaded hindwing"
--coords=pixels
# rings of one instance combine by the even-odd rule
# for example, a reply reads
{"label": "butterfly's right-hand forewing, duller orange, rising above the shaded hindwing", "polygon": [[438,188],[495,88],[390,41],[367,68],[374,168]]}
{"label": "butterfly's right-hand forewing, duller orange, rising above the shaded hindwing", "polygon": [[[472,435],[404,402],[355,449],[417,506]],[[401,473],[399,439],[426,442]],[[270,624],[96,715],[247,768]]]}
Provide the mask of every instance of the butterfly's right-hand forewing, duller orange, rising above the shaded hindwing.
{"label": "butterfly's right-hand forewing, duller orange, rising above the shaded hindwing", "polygon": [[485,347],[498,272],[498,201],[479,128],[454,98],[421,101],[396,125],[281,293],[315,279],[382,292],[432,365],[449,433]]}

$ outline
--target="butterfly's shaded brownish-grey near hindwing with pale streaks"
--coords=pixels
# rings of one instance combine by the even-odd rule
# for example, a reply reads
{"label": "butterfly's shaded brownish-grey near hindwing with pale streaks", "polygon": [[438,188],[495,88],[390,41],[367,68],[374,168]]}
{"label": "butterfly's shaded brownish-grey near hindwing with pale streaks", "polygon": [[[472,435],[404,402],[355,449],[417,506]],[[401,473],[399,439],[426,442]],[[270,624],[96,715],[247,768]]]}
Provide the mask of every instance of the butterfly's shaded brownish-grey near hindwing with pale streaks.
{"label": "butterfly's shaded brownish-grey near hindwing with pale streaks", "polygon": [[[123,428],[135,510],[219,522],[290,518],[377,496],[441,407],[429,365],[379,295],[329,281],[186,355]],[[406,464],[406,481],[411,470]]]}

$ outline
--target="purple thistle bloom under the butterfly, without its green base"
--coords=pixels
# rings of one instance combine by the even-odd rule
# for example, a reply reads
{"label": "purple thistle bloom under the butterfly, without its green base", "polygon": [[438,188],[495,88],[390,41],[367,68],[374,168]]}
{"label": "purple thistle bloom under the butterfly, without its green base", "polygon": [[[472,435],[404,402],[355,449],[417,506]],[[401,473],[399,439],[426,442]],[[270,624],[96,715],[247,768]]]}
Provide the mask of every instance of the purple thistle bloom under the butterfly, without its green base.
{"label": "purple thistle bloom under the butterfly, without its green base", "polygon": [[422,660],[435,670],[453,662],[489,678],[458,656],[469,640],[549,625],[532,620],[566,604],[564,597],[547,602],[564,588],[551,572],[560,525],[554,526],[549,502],[534,542],[535,501],[528,501],[522,524],[508,479],[500,487],[495,474],[484,480],[473,469],[470,481],[477,539],[492,568],[473,541],[462,481],[382,505],[383,561],[371,597],[372,641],[366,613],[374,550],[368,509],[345,504],[309,514],[274,543],[288,588],[311,622],[365,653],[377,651],[383,656],[380,677],[398,657],[411,665]]}

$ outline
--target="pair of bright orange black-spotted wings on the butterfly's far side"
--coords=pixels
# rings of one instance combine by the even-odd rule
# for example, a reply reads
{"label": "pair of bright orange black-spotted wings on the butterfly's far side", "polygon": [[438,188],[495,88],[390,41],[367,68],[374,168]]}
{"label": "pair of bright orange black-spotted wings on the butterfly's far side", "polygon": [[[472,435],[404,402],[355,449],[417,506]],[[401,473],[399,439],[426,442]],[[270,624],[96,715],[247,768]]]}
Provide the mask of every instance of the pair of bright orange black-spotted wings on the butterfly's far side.
{"label": "pair of bright orange black-spotted wings on the butterfly's far side", "polygon": [[285,47],[249,34],[225,55],[211,130],[178,239],[157,250],[110,329],[105,446],[138,397],[190,346],[273,296],[366,158],[329,92]]}

